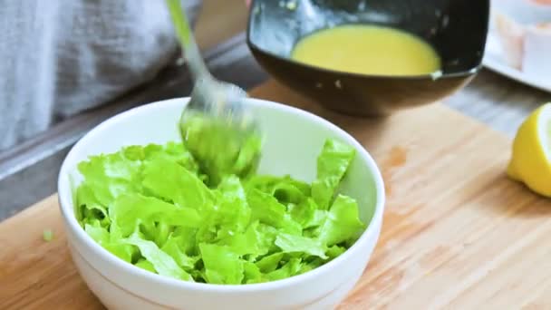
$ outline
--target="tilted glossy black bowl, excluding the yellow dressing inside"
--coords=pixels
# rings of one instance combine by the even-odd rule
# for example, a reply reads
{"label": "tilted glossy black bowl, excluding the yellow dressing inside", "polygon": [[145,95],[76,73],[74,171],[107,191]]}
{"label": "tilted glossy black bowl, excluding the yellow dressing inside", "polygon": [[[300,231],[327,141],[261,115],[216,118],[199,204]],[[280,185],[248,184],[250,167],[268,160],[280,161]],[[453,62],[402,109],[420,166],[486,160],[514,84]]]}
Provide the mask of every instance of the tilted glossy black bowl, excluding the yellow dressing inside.
{"label": "tilted glossy black bowl, excluding the yellow dressing inside", "polygon": [[[247,44],[267,73],[326,108],[384,115],[439,101],[468,83],[482,66],[488,20],[488,0],[255,0]],[[340,24],[378,24],[416,34],[439,53],[441,74],[345,73],[290,59],[305,35]]]}

